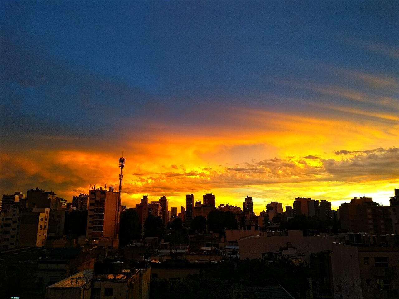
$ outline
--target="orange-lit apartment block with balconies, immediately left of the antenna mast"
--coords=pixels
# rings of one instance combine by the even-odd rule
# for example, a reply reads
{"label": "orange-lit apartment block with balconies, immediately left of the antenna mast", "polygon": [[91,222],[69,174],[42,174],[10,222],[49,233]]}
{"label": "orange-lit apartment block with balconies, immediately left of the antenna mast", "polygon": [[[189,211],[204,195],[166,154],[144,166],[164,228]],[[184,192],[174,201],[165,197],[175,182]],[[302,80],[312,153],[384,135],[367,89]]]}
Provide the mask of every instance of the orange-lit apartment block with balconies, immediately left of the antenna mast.
{"label": "orange-lit apartment block with balconies, immediately left of the antenna mast", "polygon": [[103,188],[90,190],[86,230],[88,238],[116,238],[118,195],[113,187],[108,191]]}

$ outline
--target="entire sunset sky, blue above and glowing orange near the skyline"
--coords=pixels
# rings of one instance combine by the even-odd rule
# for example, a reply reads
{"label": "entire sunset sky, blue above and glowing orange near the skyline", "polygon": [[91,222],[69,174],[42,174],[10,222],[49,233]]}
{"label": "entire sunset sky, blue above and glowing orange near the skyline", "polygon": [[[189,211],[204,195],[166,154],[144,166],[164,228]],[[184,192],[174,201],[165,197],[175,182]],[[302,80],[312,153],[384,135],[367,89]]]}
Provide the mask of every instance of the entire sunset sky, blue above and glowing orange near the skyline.
{"label": "entire sunset sky, blue above and glowing orange near the skyline", "polygon": [[1,1],[0,193],[256,213],[399,188],[397,1]]}

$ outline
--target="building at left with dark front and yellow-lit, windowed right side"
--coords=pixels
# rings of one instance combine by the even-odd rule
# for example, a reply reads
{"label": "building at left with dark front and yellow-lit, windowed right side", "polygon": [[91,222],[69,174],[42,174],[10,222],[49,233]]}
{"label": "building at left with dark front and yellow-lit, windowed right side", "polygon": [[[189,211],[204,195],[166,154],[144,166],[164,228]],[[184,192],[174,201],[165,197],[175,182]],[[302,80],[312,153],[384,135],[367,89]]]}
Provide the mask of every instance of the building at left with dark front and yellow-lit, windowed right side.
{"label": "building at left with dark front and yellow-lit, windowed right side", "polygon": [[22,211],[18,247],[44,247],[47,240],[49,208]]}

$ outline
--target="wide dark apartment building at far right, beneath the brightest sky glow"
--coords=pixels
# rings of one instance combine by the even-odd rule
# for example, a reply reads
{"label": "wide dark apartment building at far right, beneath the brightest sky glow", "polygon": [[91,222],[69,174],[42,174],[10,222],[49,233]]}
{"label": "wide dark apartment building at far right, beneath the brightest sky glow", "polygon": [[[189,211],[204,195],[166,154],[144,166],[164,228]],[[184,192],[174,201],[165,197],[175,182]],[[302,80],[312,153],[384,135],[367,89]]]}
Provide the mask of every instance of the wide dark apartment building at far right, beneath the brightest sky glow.
{"label": "wide dark apartment building at far right, beneath the brightest sky glow", "polygon": [[371,197],[354,197],[340,207],[341,228],[352,232],[385,235],[393,232],[391,207],[380,206]]}

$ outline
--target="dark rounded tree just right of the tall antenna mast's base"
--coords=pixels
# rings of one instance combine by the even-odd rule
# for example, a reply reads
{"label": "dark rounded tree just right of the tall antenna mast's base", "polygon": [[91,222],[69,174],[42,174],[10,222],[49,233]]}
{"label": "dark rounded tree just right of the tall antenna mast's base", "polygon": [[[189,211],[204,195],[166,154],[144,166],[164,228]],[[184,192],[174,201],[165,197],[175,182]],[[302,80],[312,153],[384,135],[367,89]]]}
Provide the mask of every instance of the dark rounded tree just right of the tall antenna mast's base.
{"label": "dark rounded tree just right of the tall antenna mast's base", "polygon": [[132,240],[141,239],[141,225],[138,220],[137,211],[127,209],[120,217],[119,221],[119,246],[123,247]]}

